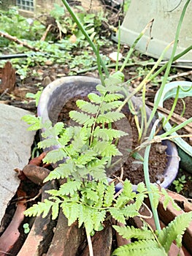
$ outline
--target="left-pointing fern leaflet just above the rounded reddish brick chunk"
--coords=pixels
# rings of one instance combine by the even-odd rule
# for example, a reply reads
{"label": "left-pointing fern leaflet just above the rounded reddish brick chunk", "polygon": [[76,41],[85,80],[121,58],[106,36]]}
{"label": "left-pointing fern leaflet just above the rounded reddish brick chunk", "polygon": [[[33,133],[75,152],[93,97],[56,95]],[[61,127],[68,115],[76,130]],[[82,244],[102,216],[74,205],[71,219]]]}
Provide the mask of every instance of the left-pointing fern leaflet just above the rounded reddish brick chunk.
{"label": "left-pointing fern leaflet just above the rounded reddish brick chunk", "polygon": [[66,155],[66,152],[64,151],[64,149],[58,148],[58,149],[49,151],[46,154],[45,158],[43,159],[43,162],[55,164],[56,162],[63,160],[66,157],[67,157],[67,155]]}

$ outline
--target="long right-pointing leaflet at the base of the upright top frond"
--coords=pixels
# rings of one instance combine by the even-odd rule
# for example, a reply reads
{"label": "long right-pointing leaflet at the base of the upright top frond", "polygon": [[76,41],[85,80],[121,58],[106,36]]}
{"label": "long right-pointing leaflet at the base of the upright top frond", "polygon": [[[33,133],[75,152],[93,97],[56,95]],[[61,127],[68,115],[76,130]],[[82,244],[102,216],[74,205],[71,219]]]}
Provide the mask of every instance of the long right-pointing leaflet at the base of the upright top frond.
{"label": "long right-pointing leaflet at the base of the upright top frond", "polygon": [[102,140],[113,140],[126,135],[128,135],[126,132],[120,131],[118,129],[106,129],[100,127],[96,127],[93,132],[93,137],[101,138]]}

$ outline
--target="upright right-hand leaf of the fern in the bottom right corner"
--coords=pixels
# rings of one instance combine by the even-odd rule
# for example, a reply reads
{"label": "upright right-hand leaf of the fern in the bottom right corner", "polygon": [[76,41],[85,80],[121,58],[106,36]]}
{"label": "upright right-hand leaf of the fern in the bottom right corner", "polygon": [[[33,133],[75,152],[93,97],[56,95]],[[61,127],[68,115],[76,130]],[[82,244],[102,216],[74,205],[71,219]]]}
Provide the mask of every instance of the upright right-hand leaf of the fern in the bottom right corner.
{"label": "upright right-hand leaf of the fern in the bottom right corner", "polygon": [[[158,241],[164,246],[166,252],[169,252],[172,241],[176,241],[183,236],[186,228],[190,225],[192,220],[192,211],[180,214],[168,226],[164,227],[159,233]],[[178,239],[180,241],[180,239]],[[180,246],[180,244],[178,244]]]}

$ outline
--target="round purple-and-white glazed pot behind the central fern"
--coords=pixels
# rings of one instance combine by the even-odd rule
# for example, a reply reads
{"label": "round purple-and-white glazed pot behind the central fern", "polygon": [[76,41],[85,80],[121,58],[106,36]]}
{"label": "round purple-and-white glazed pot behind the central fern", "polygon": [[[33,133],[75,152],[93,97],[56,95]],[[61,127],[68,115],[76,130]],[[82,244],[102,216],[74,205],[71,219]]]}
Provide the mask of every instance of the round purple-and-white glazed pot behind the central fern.
{"label": "round purple-and-white glazed pot behind the central fern", "polygon": [[[96,85],[99,83],[99,79],[83,76],[65,77],[53,81],[42,92],[37,108],[38,116],[42,117],[42,122],[50,120],[53,124],[55,124],[58,120],[58,115],[61,112],[61,109],[64,107],[66,102],[69,101],[69,99],[72,99],[77,95],[86,96],[91,92],[95,92]],[[136,109],[139,109],[142,105],[142,101],[137,97],[133,97],[131,101]],[[146,112],[147,116],[150,116],[150,109],[147,107]],[[128,123],[126,124],[129,125]],[[172,184],[172,181],[174,181],[174,178],[177,176],[179,157],[177,155],[177,148],[174,143],[166,140],[164,141],[164,145],[167,146],[167,165],[164,170],[163,181],[156,181],[156,183],[158,183],[161,187],[166,188]],[[118,184],[116,188],[120,189],[122,188],[122,185]],[[133,186],[133,189],[135,190],[136,187]]]}

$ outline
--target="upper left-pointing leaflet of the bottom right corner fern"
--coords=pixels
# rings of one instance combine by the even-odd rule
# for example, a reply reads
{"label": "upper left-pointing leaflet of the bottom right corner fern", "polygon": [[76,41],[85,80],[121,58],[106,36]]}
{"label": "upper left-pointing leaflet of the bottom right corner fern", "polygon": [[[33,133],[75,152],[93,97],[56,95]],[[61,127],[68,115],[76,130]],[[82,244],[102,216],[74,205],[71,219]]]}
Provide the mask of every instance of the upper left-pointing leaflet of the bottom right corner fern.
{"label": "upper left-pointing leaflet of the bottom right corner fern", "polygon": [[153,233],[150,230],[142,230],[140,228],[131,227],[119,227],[112,226],[123,238],[137,238],[139,240],[154,239]]}

